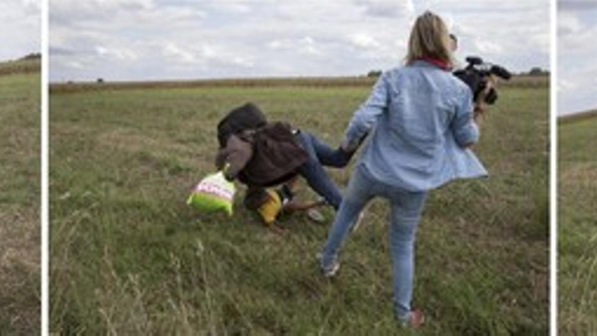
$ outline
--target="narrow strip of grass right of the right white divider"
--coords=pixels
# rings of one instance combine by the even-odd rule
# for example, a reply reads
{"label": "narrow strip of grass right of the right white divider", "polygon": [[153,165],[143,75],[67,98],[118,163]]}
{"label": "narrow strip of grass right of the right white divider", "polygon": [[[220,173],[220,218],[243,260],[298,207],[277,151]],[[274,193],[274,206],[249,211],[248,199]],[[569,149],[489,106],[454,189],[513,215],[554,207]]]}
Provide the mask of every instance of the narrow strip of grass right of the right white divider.
{"label": "narrow strip of grass right of the right white divider", "polygon": [[558,132],[558,291],[561,335],[597,335],[597,116]]}

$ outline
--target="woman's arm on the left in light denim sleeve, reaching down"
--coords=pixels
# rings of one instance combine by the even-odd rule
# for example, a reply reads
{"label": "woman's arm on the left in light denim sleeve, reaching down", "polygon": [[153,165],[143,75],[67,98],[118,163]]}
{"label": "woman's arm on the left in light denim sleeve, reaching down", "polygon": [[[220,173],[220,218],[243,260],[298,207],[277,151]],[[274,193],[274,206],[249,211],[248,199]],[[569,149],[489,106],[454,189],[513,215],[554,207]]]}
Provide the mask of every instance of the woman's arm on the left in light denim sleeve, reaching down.
{"label": "woman's arm on the left in light denim sleeve, reaching down", "polygon": [[350,120],[341,145],[345,151],[356,151],[362,139],[377,123],[378,117],[386,111],[389,102],[387,77],[387,72],[381,74],[367,100],[356,110]]}

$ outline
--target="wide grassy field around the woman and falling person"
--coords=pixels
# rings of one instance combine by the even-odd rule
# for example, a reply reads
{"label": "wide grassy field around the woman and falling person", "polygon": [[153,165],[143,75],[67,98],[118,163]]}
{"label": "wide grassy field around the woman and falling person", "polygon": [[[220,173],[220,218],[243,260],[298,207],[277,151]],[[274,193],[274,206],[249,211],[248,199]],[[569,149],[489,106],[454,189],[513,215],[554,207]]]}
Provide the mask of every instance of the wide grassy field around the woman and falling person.
{"label": "wide grassy field around the woman and falling person", "polygon": [[[294,83],[296,84],[296,83]],[[420,334],[545,335],[548,88],[510,85],[476,152],[491,178],[434,191],[418,231]],[[56,87],[54,87],[56,88]],[[336,145],[367,85],[113,87],[51,94],[51,331],[62,334],[389,335],[388,207],[371,204],[324,279],[325,224],[284,234],[237,204],[184,203],[213,172],[217,121],[257,103]],[[341,186],[350,169],[331,171]],[[241,193],[238,197],[242,197]],[[301,197],[315,197],[303,188]],[[401,331],[410,334],[408,331]]]}

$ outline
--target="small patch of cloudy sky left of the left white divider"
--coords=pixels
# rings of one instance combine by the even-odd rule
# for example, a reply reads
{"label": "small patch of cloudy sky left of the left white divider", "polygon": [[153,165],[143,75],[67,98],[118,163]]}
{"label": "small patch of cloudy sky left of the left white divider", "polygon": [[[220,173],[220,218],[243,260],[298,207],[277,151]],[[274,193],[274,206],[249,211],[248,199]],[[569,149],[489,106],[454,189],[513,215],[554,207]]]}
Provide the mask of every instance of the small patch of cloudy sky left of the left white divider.
{"label": "small patch of cloudy sky left of the left white divider", "polygon": [[41,0],[0,0],[0,62],[41,50]]}

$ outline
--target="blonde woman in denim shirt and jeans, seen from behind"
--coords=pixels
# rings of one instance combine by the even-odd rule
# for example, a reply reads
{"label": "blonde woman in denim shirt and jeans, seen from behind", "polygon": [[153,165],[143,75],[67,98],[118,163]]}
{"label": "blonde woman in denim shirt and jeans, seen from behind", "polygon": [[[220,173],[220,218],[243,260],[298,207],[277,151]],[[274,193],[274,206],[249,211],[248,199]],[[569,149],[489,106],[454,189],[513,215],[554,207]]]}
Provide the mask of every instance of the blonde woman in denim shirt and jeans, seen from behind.
{"label": "blonde woman in denim shirt and jeans, seen from behind", "polygon": [[346,130],[342,146],[349,151],[371,135],[319,254],[324,275],[334,276],[338,249],[365,204],[387,198],[395,314],[412,327],[424,321],[411,297],[415,234],[427,192],[453,179],[487,175],[469,149],[479,138],[472,92],[451,74],[452,64],[444,22],[422,14],[411,30],[405,65],[381,75]]}

